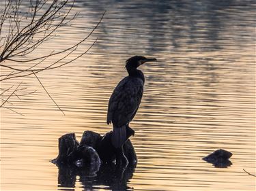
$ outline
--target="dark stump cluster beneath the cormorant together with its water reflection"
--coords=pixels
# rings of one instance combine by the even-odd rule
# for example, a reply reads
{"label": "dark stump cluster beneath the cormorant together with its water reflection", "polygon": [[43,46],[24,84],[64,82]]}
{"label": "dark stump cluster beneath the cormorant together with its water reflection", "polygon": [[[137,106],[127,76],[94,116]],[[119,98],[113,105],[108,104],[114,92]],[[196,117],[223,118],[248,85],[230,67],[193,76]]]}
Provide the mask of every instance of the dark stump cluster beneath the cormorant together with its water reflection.
{"label": "dark stump cluster beneath the cormorant together with its water reflection", "polygon": [[116,149],[111,143],[112,132],[102,137],[98,133],[85,131],[80,144],[74,133],[60,137],[59,155],[52,160],[59,167],[59,186],[74,188],[76,177],[79,176],[85,190],[101,185],[109,186],[111,190],[132,189],[127,187],[127,181],[132,178],[137,164],[137,156],[129,140],[134,135],[132,128],[126,128],[126,135],[124,154],[129,164],[125,168],[119,168],[113,163]]}

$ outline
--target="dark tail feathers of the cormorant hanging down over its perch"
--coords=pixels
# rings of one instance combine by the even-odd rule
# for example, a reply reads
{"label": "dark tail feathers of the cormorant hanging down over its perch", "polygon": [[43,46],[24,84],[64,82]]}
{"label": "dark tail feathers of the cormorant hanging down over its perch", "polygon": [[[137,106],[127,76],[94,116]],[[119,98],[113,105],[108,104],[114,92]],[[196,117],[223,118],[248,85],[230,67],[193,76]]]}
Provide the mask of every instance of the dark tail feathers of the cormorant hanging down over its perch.
{"label": "dark tail feathers of the cormorant hanging down over its perch", "polygon": [[113,127],[111,142],[114,147],[119,148],[126,142],[126,125]]}

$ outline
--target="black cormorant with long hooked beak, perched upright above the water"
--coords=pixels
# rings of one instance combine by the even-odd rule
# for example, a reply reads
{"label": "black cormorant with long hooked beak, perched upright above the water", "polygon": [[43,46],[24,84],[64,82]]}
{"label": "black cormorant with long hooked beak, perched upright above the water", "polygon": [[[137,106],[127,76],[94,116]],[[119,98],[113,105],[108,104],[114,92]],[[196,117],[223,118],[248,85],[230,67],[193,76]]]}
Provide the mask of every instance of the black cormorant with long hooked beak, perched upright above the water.
{"label": "black cormorant with long hooked beak, perched upright above the water", "polygon": [[126,130],[132,131],[132,135],[134,135],[129,123],[137,113],[143,95],[145,77],[137,67],[155,60],[156,58],[145,58],[144,56],[132,56],[126,60],[126,70],[129,75],[117,84],[109,99],[106,123],[113,123],[111,142],[117,150],[116,162],[127,163],[122,147],[127,140]]}

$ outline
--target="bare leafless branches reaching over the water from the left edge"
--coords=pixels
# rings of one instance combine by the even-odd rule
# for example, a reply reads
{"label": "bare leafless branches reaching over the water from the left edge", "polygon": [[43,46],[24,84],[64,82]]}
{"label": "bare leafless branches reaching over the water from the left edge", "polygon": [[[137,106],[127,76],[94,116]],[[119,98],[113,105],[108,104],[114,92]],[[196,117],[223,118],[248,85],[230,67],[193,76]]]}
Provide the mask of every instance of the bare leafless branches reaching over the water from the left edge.
{"label": "bare leafless branches reaching over the water from the left edge", "polygon": [[[71,26],[71,21],[78,16],[77,13],[73,14],[71,12],[74,7],[74,0],[29,0],[27,10],[21,9],[24,2],[22,0],[5,0],[4,2],[3,8],[1,7],[0,9],[0,67],[6,68],[7,70],[4,74],[0,75],[0,77],[3,77],[0,81],[35,75],[42,88],[44,88],[48,94],[48,97],[52,99],[63,115],[65,115],[36,74],[44,70],[57,69],[64,65],[68,65],[84,54],[87,54],[94,44],[96,44],[97,39],[89,46],[89,48],[87,48],[87,50],[83,50],[82,53],[79,53],[73,58],[68,58],[78,50],[81,44],[91,37],[102,22],[106,12],[102,14],[94,28],[80,41],[74,43],[74,45],[65,48],[64,50],[52,51],[50,53],[47,52],[40,56],[27,58],[27,56],[31,55],[31,52],[36,50],[39,46],[42,46],[44,42],[56,37],[58,29],[65,27],[68,24]],[[43,65],[47,58],[57,58],[57,61],[50,65]],[[6,62],[7,60],[10,62]],[[16,65],[10,65],[10,63]],[[23,68],[23,65],[20,63],[28,63],[29,67]],[[0,95],[3,99],[0,98],[0,107],[4,107],[3,105],[5,103],[10,103],[8,100],[12,96],[16,96],[20,99],[20,96],[35,92],[20,93],[20,91],[26,89],[18,88],[20,84],[14,91],[12,91],[14,86],[2,89],[3,91]],[[14,111],[10,107],[5,106],[4,108]]]}

